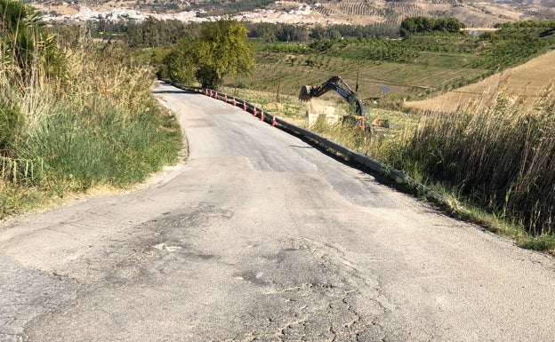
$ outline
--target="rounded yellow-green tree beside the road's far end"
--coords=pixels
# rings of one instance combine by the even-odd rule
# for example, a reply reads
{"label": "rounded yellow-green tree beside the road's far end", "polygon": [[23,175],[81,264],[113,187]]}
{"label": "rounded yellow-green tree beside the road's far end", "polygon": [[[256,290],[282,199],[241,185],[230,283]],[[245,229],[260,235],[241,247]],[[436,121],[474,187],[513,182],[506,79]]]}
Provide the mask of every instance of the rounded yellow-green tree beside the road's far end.
{"label": "rounded yellow-green tree beside the road's far end", "polygon": [[245,26],[237,20],[203,23],[198,37],[181,39],[168,55],[170,76],[183,82],[194,74],[203,87],[217,89],[224,76],[246,74],[253,68],[253,51],[246,37]]}

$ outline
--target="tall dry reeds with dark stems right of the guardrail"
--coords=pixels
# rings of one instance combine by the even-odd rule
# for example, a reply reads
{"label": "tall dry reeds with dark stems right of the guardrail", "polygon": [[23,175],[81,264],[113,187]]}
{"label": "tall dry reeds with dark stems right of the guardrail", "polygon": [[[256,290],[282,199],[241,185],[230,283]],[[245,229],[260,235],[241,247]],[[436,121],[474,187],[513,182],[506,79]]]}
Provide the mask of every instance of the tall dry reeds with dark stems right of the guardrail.
{"label": "tall dry reeds with dark stems right of the guardrail", "polygon": [[[312,129],[428,185],[451,188],[529,236],[549,237],[555,234],[555,92],[548,87],[539,95],[519,98],[501,84],[454,113],[423,112],[403,131],[368,134],[323,121]],[[547,240],[527,243],[543,249]]]}

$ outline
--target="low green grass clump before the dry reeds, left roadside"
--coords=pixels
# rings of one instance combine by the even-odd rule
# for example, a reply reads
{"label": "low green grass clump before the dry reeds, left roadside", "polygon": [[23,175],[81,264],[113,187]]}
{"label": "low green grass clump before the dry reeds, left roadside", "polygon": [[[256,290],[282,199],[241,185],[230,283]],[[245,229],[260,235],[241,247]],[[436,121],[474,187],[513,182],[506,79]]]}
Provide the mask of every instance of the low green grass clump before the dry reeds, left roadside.
{"label": "low green grass clump before the dry reeds, left roadside", "polygon": [[156,106],[128,120],[122,111],[101,96],[88,106],[57,104],[28,132],[28,154],[43,156],[50,177],[76,190],[125,187],[173,162],[181,145],[173,117]]}

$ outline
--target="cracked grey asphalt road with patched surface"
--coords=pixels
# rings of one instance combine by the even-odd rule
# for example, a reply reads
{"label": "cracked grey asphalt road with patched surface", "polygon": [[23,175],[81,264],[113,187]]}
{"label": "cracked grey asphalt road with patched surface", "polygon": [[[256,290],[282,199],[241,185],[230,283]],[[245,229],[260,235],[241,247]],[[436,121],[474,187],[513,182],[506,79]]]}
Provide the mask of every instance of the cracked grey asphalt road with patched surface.
{"label": "cracked grey asphalt road with patched surface", "polygon": [[0,341],[553,341],[555,264],[225,103],[189,161],[0,225]]}

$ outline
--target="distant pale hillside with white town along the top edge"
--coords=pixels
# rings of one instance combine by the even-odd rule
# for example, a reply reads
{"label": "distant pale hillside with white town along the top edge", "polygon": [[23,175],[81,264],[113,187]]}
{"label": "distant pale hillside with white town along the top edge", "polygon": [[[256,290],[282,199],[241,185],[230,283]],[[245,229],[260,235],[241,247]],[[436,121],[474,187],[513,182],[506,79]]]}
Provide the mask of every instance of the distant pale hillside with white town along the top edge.
{"label": "distant pale hillside with white town along the top edge", "polygon": [[[555,19],[552,1],[530,0],[518,2],[461,2],[455,0],[433,1],[386,1],[386,0],[324,0],[305,2],[272,0],[37,0],[31,2],[46,13],[55,15],[78,15],[76,20],[85,20],[83,12],[110,12],[126,8],[146,14],[191,12],[178,17],[182,20],[199,20],[211,15],[240,14],[239,18],[253,21],[289,23],[383,23],[398,26],[406,17],[432,16],[455,17],[469,27],[489,28],[495,23],[515,20]],[[93,15],[93,14],[91,14]],[[105,16],[106,17],[106,16]],[[140,18],[140,16],[136,16]],[[70,18],[71,19],[71,18]],[[90,19],[90,18],[89,18]]]}

